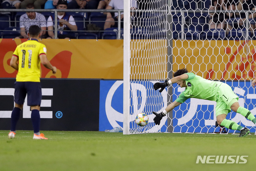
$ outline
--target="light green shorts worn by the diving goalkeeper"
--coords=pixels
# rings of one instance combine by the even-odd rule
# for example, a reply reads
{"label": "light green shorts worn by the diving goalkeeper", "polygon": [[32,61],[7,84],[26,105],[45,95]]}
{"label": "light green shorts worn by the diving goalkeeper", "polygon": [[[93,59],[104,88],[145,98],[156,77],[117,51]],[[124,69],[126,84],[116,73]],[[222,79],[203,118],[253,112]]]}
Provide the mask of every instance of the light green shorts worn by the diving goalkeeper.
{"label": "light green shorts worn by the diving goalkeeper", "polygon": [[217,91],[216,102],[216,117],[221,114],[227,115],[231,111],[230,106],[238,102],[238,96],[228,84],[222,83]]}

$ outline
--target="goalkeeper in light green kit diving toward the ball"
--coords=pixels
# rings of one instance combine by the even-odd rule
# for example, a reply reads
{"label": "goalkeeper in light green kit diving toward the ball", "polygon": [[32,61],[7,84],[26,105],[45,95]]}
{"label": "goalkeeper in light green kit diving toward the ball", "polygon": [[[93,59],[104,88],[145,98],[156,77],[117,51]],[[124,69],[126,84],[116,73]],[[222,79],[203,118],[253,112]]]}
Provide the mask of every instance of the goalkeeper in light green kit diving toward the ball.
{"label": "goalkeeper in light green kit diving toward the ball", "polygon": [[180,105],[186,101],[186,99],[196,98],[217,102],[216,119],[218,125],[240,131],[239,137],[245,137],[250,133],[248,128],[242,127],[234,121],[226,119],[227,114],[232,109],[234,112],[240,113],[247,119],[251,120],[254,124],[256,123],[256,118],[254,115],[248,109],[239,105],[238,96],[232,91],[228,84],[206,80],[200,76],[196,76],[193,73],[188,73],[188,70],[185,68],[177,70],[173,76],[174,78],[164,83],[154,84],[154,89],[157,90],[161,88],[159,90],[161,93],[166,86],[177,83],[180,87],[185,87],[185,91],[180,93],[179,97],[168,105],[161,113],[156,113],[153,111],[153,113],[156,115],[156,117],[154,117],[154,122],[156,125],[160,125],[162,117],[174,109],[174,107]]}

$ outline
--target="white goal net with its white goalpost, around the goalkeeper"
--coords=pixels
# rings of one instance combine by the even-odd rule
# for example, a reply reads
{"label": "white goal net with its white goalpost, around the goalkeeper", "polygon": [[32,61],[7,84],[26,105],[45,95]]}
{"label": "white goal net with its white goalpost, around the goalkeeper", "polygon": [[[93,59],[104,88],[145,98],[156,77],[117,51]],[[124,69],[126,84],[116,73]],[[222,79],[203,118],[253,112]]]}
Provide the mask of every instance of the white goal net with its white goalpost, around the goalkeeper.
{"label": "white goal net with its white goalpost, around the goalkeeper", "polygon": [[[256,113],[250,82],[256,66],[252,9],[246,10],[246,4],[238,9],[234,0],[217,5],[211,0],[137,0],[138,8],[132,1],[124,1],[124,134],[223,133],[216,127],[216,102],[194,98],[155,125],[152,111],[163,111],[184,88],[173,84],[159,93],[153,85],[171,79],[182,68],[230,85],[240,106]],[[148,115],[146,126],[136,124],[138,113]],[[232,111],[226,119],[255,132],[255,125],[239,113]]]}

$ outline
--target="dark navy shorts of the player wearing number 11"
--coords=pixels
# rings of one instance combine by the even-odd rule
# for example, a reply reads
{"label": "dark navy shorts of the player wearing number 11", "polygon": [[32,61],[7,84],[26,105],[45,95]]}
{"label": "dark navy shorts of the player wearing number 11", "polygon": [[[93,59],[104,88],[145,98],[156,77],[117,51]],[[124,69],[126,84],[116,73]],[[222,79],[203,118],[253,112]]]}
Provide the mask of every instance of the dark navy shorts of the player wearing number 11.
{"label": "dark navy shorts of the player wearing number 11", "polygon": [[41,105],[42,88],[40,82],[15,82],[14,101],[23,105],[28,94],[28,106]]}

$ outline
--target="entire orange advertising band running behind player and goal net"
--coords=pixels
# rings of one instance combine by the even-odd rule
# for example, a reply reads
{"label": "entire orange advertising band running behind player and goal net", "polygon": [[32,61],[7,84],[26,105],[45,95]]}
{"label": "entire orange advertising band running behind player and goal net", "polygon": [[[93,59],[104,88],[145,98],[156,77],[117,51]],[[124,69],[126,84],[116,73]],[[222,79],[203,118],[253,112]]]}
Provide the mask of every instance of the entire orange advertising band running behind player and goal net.
{"label": "entire orange advertising band running behind player and goal net", "polygon": [[[15,78],[12,54],[25,39],[0,39],[0,78]],[[56,75],[42,67],[42,78],[123,79],[123,40],[39,40]],[[252,80],[256,41],[173,40],[172,70],[187,68],[212,80]],[[131,78],[167,78],[165,40],[131,42]],[[139,73],[139,74],[138,74]]]}

